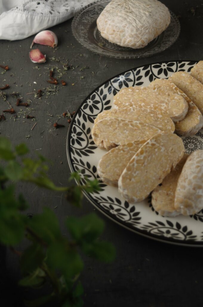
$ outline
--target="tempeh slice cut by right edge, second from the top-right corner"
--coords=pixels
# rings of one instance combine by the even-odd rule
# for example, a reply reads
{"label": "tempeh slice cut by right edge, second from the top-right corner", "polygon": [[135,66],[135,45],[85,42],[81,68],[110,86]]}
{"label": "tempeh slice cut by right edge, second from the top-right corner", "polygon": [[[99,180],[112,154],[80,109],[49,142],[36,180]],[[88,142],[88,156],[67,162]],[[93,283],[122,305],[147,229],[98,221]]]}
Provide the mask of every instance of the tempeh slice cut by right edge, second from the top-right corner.
{"label": "tempeh slice cut by right edge, second from the top-right corner", "polygon": [[187,72],[175,72],[169,80],[179,87],[203,114],[203,84]]}

